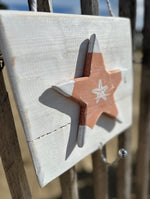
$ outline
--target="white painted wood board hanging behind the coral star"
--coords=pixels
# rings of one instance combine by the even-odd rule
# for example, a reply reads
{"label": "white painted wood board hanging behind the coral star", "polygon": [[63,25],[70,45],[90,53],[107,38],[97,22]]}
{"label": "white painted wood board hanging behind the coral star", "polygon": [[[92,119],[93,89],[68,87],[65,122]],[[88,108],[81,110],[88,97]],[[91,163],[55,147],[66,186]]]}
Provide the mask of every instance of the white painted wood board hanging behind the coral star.
{"label": "white painted wood board hanging behind the coral star", "polygon": [[[106,68],[120,69],[123,74],[115,92],[122,123],[102,115],[79,148],[80,107],[51,87],[82,76],[88,39],[94,33]],[[128,19],[1,11],[0,45],[41,186],[131,125],[133,73]]]}

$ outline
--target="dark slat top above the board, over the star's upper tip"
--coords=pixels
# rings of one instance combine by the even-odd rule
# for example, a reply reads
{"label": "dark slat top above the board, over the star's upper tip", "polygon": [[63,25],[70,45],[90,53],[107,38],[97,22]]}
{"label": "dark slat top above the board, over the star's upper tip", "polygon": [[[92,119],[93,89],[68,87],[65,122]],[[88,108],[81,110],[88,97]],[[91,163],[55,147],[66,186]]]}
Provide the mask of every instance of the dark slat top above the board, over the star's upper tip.
{"label": "dark slat top above the board, over the star's upper tip", "polygon": [[84,15],[99,15],[98,0],[80,0],[81,13]]}

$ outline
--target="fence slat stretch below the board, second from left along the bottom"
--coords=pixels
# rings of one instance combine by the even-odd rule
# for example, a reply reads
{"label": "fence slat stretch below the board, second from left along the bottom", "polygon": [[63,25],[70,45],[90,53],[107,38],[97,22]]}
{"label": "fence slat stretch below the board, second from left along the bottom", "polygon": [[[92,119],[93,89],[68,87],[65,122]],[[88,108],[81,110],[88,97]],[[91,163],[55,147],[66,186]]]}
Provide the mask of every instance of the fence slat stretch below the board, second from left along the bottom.
{"label": "fence slat stretch below the board, second from left along the bottom", "polygon": [[78,183],[75,167],[60,176],[63,199],[78,199]]}

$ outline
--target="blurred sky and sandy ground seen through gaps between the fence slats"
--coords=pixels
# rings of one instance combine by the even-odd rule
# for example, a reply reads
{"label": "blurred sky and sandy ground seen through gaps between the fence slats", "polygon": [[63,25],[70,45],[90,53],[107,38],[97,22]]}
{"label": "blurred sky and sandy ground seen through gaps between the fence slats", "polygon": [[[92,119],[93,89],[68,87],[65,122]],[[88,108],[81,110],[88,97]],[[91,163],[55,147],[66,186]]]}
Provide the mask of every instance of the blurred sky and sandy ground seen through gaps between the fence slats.
{"label": "blurred sky and sandy ground seen through gaps between the fence slats", "polygon": [[[110,0],[112,10],[116,16],[118,16],[118,0]],[[68,14],[80,14],[80,1],[79,0],[52,0],[53,11],[55,13],[68,13]],[[0,8],[10,10],[28,10],[27,0],[0,0]],[[100,15],[108,16],[108,9],[105,0],[100,0]],[[138,116],[139,116],[139,94],[140,94],[140,74],[141,74],[141,44],[142,44],[142,31],[143,27],[143,0],[137,0],[137,23],[136,23],[136,53],[134,55],[134,81],[136,86],[134,88],[134,115],[133,115],[133,127],[132,127],[132,155],[133,160],[136,159],[137,142],[138,142]],[[17,129],[18,139],[24,161],[24,166],[29,181],[30,189],[33,199],[58,199],[61,197],[61,189],[59,179],[53,180],[46,187],[40,188],[37,182],[37,178],[34,172],[31,156],[26,143],[24,131],[19,118],[18,111],[14,102],[12,91],[7,78],[7,73],[4,70],[5,82],[7,90],[9,92],[10,102],[13,109],[13,115],[15,118],[15,125]],[[113,147],[112,147],[113,146]],[[109,150],[111,148],[111,150]],[[116,157],[117,153],[117,139],[114,138],[107,144],[107,158],[112,161]],[[133,178],[132,178],[132,193],[134,193],[134,181],[135,181],[135,161],[133,161]],[[88,156],[76,165],[78,172],[78,185],[80,196],[84,198],[94,198],[92,188],[92,163],[91,157]],[[116,197],[116,167],[109,168],[109,196],[111,198]],[[0,198],[11,199],[5,173],[0,160]],[[134,194],[132,194],[134,198]]]}

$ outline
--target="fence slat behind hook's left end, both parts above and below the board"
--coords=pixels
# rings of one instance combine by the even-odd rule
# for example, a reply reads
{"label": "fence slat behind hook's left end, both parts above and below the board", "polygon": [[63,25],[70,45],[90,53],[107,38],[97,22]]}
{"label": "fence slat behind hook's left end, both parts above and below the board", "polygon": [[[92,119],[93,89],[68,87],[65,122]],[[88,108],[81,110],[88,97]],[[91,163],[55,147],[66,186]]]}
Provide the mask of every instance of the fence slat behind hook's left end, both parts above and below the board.
{"label": "fence slat behind hook's left end, both parts above and below the board", "polygon": [[[99,15],[98,0],[81,0],[81,13],[86,15]],[[107,166],[101,159],[100,150],[92,154],[93,181],[95,199],[106,199],[108,192]]]}

